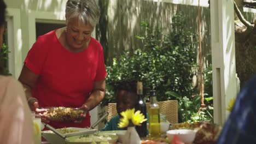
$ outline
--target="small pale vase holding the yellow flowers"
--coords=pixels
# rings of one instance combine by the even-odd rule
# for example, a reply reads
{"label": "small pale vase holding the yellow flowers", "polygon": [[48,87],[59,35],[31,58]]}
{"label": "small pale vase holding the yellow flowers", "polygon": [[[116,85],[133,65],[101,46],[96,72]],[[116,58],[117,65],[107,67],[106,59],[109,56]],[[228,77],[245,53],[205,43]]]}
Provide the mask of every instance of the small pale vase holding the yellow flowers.
{"label": "small pale vase holding the yellow flowers", "polygon": [[127,131],[123,139],[123,144],[141,144],[141,138],[139,138],[135,127],[127,127]]}

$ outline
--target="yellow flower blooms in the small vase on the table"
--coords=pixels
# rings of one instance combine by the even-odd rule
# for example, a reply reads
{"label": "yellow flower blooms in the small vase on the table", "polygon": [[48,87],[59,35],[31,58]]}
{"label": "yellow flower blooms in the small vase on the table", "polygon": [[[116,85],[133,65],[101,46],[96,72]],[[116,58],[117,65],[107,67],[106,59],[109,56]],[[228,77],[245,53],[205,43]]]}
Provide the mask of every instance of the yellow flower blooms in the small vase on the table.
{"label": "yellow flower blooms in the small vase on the table", "polygon": [[127,109],[126,111],[121,112],[122,118],[118,123],[119,128],[125,128],[133,125],[141,125],[141,123],[147,121],[147,118],[141,113],[141,111],[136,111],[135,109]]}

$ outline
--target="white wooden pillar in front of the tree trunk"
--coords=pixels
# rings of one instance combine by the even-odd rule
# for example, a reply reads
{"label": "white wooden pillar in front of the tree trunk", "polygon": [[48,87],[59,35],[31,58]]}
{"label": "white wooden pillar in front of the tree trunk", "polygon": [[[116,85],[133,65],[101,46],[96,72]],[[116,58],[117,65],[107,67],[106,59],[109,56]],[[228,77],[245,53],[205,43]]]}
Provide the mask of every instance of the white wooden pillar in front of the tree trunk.
{"label": "white wooden pillar in front of the tree trunk", "polygon": [[236,97],[234,0],[211,0],[214,123],[224,124],[226,107]]}

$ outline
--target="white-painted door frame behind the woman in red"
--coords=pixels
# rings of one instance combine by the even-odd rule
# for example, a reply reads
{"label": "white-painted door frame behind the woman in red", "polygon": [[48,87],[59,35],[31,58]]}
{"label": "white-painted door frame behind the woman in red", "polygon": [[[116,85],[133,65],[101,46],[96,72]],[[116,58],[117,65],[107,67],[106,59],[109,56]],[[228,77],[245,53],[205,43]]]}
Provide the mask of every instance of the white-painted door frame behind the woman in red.
{"label": "white-painted door frame behind the woman in red", "polygon": [[[36,21],[45,19],[49,21],[64,21],[65,4],[67,0],[5,0],[7,4],[8,17],[13,22],[13,41],[8,41],[8,45],[15,48],[10,49],[9,67],[10,73],[18,79],[22,69],[23,61],[26,58],[34,41],[36,41]],[[11,31],[11,30],[10,30]],[[13,56],[13,58],[11,58]]]}

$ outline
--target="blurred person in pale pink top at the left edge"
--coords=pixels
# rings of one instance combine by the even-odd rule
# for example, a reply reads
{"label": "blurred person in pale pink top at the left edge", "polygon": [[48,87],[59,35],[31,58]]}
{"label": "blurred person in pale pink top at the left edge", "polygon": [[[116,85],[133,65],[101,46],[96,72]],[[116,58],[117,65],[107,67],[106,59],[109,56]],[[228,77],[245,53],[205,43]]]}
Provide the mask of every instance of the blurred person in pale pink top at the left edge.
{"label": "blurred person in pale pink top at the left edge", "polygon": [[[3,43],[6,5],[0,0],[0,51]],[[24,90],[11,76],[0,75],[0,142],[33,143],[33,123]]]}

